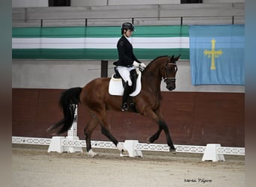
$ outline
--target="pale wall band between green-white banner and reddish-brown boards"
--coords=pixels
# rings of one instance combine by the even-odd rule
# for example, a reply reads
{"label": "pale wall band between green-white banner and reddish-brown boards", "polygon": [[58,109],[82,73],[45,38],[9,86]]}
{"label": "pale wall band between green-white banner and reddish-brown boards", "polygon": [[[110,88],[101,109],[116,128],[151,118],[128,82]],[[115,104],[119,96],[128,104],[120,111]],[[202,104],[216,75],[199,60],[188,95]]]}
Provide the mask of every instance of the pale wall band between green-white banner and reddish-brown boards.
{"label": "pale wall band between green-white banner and reddish-brown boards", "polygon": [[[114,73],[113,61],[109,61],[109,77]],[[144,61],[148,64],[149,61]],[[83,87],[100,77],[100,61],[33,61],[13,60],[13,88],[67,89]],[[174,91],[245,92],[238,85],[191,85],[189,61],[178,62],[177,88]],[[162,91],[168,91],[162,82]]]}

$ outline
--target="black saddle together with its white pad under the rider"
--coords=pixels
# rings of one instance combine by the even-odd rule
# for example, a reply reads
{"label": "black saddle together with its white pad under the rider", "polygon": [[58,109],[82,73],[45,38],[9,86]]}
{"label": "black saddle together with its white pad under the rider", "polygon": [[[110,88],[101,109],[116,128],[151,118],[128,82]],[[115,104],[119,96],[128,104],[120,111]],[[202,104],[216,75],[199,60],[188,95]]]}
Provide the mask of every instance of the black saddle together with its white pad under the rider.
{"label": "black saddle together with its white pad under the rider", "polygon": [[[114,68],[115,74],[109,82],[109,94],[114,96],[123,96],[125,82],[118,73],[117,68]],[[141,91],[141,71],[138,69],[130,71],[130,79],[132,81],[132,91],[129,96],[136,96]]]}

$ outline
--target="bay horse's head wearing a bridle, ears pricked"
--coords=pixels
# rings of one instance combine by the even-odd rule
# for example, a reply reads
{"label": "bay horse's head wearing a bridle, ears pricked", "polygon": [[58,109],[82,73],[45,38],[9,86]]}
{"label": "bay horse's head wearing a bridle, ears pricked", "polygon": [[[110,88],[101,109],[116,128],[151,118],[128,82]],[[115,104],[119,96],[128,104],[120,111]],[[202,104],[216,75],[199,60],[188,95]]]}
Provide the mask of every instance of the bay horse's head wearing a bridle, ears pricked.
{"label": "bay horse's head wearing a bridle, ears pricked", "polygon": [[180,59],[180,55],[174,57],[174,55],[168,57],[168,61],[165,63],[165,66],[162,68],[162,78],[166,84],[166,88],[169,91],[173,91],[176,88],[176,73],[177,73],[177,64],[176,61]]}

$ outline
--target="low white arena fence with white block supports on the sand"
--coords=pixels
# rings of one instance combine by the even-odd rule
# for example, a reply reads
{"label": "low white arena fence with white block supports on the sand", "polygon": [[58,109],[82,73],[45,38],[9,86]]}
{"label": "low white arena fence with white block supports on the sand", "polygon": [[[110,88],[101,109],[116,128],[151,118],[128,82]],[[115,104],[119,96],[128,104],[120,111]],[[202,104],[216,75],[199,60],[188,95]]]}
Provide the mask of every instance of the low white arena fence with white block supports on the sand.
{"label": "low white arena fence with white block supports on the sand", "polygon": [[[82,147],[86,147],[85,141],[72,139],[69,137],[53,137],[53,138],[30,138],[12,136],[13,144],[33,144],[33,145],[48,145],[49,148],[53,141],[59,141],[59,147],[55,147],[48,152],[57,151],[62,152],[82,152]],[[167,144],[146,144],[139,143],[138,141],[125,141],[121,142],[128,150],[131,157],[142,156],[141,151],[164,151],[168,152],[169,147]],[[127,145],[127,146],[126,146]],[[111,141],[91,141],[93,148],[106,148],[117,149],[115,144]],[[224,155],[245,156],[244,147],[221,147],[220,144],[207,144],[207,146],[195,146],[195,145],[177,145],[174,144],[177,153],[201,153],[204,154],[202,161],[225,161]],[[66,148],[66,149],[65,149]],[[69,149],[68,149],[69,148]],[[71,148],[71,149],[70,149]],[[124,155],[121,155],[124,156]]]}

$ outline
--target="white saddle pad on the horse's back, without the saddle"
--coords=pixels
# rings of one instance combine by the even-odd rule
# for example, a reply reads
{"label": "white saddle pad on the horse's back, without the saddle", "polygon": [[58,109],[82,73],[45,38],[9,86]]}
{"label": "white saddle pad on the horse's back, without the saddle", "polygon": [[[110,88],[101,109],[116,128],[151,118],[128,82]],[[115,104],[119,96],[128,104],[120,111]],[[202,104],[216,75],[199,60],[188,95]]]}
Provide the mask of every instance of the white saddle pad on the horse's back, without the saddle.
{"label": "white saddle pad on the horse's back, without the saddle", "polygon": [[[138,79],[136,83],[136,89],[132,93],[129,94],[129,96],[137,96],[138,93],[141,92],[141,72],[138,72]],[[122,84],[122,79],[115,79],[114,74],[112,75],[112,78],[109,82],[109,94],[114,96],[123,96],[124,88]]]}

